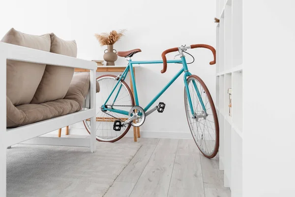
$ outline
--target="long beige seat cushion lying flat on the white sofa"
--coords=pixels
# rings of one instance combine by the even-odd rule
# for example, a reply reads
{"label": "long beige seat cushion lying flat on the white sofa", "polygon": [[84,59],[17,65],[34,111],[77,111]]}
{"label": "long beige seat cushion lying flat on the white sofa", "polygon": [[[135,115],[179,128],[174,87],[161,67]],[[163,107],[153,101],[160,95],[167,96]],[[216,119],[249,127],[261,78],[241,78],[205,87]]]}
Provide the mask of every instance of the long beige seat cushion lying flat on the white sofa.
{"label": "long beige seat cushion lying flat on the white sofa", "polygon": [[[89,73],[75,74],[64,99],[41,104],[23,104],[15,107],[6,97],[7,128],[20,127],[81,110],[89,91],[89,79]],[[99,92],[98,83],[96,90]]]}

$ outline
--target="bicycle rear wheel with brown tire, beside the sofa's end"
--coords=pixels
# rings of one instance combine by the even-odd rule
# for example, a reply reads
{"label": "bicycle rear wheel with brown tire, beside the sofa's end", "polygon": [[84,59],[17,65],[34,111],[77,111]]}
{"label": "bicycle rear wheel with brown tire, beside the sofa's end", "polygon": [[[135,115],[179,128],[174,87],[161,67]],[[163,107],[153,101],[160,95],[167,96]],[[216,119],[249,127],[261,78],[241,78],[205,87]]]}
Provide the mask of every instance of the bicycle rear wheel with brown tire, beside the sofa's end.
{"label": "bicycle rear wheel with brown tire, beside the sofa's end", "polygon": [[[115,131],[113,129],[114,122],[118,119],[123,121],[127,120],[129,117],[127,115],[118,114],[111,111],[103,112],[101,106],[105,103],[106,99],[111,94],[112,90],[118,83],[115,75],[106,74],[96,78],[100,86],[100,92],[97,93],[96,97],[96,140],[104,142],[115,142],[121,139],[130,129],[131,124],[121,127],[120,131]],[[115,100],[115,97],[118,96]],[[113,95],[110,97],[107,105],[119,105],[114,106],[116,109],[128,111],[134,105],[133,95],[129,86],[125,81],[121,80],[115,89]],[[125,105],[125,106],[123,106]],[[113,117],[114,116],[114,117]],[[118,119],[117,119],[118,118]],[[86,130],[90,134],[90,119],[83,121]]]}

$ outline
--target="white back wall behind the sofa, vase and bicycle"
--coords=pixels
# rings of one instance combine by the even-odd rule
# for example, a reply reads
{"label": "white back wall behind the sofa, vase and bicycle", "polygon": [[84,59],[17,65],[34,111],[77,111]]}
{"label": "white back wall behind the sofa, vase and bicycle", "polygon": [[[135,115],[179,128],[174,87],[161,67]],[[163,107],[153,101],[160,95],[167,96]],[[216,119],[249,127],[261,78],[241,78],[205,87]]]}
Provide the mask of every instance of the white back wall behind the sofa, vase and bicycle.
{"label": "white back wall behind the sofa, vase and bicycle", "polygon": [[[6,0],[1,2],[0,37],[11,27],[24,33],[56,33],[63,39],[76,39],[78,58],[102,59],[94,33],[127,29],[114,48],[141,48],[133,60],[160,60],[161,53],[181,44],[206,43],[215,47],[214,0]],[[199,75],[215,99],[215,66],[212,53],[206,49],[190,51],[196,61],[189,66]],[[173,58],[174,55],[170,55]],[[190,61],[190,58],[187,60]],[[117,65],[126,64],[119,58]],[[180,65],[168,65],[161,74],[161,65],[147,65],[136,72],[140,104],[145,107],[176,74]],[[184,112],[183,79],[159,99],[166,103],[163,114],[148,117],[142,131],[189,132]]]}

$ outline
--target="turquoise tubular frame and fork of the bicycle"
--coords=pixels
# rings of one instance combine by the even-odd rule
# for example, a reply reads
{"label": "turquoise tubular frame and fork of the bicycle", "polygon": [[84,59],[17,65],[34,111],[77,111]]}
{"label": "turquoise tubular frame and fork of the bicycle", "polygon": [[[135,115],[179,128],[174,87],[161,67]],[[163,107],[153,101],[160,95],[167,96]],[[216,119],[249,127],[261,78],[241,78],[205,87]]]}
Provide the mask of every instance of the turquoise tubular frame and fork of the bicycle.
{"label": "turquoise tubular frame and fork of the bicycle", "polygon": [[[187,94],[187,99],[189,101],[189,106],[190,106],[190,110],[192,115],[195,115],[194,109],[193,109],[193,105],[192,105],[192,100],[191,100],[191,96],[188,90],[188,83],[187,83],[187,77],[191,75],[191,73],[188,71],[188,67],[186,64],[186,60],[185,57],[181,57],[181,60],[168,60],[167,63],[181,63],[182,64],[182,68],[177,72],[177,74],[168,82],[168,84],[148,103],[148,105],[144,108],[145,112],[148,111],[148,109],[150,108],[150,106],[157,100],[159,99],[159,97],[161,97],[161,95],[171,86],[171,84],[174,83],[174,81],[181,75],[182,72],[184,72],[183,75],[183,81],[184,81],[184,86],[185,86],[185,90],[186,90],[186,94]],[[106,99],[105,103],[103,104],[103,106],[101,106],[102,110],[107,110],[107,111],[112,111],[115,113],[119,113],[119,114],[124,114],[124,115],[129,115],[129,111],[124,111],[124,110],[119,110],[119,109],[114,109],[114,108],[106,108],[105,105],[107,104],[107,102],[109,101],[109,99],[111,98],[111,96],[114,94],[116,88],[119,85],[119,82],[121,80],[124,80],[126,78],[126,75],[128,73],[128,71],[130,70],[130,74],[131,74],[131,81],[132,81],[132,85],[133,85],[133,93],[134,93],[134,99],[135,99],[135,104],[139,105],[139,100],[138,100],[138,96],[137,96],[137,89],[136,89],[136,83],[135,83],[135,78],[134,78],[134,73],[133,73],[133,66],[132,65],[141,65],[141,64],[163,64],[163,61],[132,61],[132,60],[128,60],[128,66],[126,67],[126,69],[123,71],[122,75],[120,76],[117,84],[115,85],[115,87],[113,88],[111,94],[109,95],[108,99]],[[195,83],[195,81],[193,81],[193,85],[194,88],[196,89],[197,92],[197,96],[201,102],[202,108],[203,110],[206,112],[206,108],[203,102],[203,99],[201,97],[201,94],[199,92],[199,89]],[[118,93],[120,91],[122,87],[122,84],[120,84],[120,87],[118,89],[118,92],[115,96],[115,99],[113,101],[113,103],[115,103],[117,97],[118,97]]]}

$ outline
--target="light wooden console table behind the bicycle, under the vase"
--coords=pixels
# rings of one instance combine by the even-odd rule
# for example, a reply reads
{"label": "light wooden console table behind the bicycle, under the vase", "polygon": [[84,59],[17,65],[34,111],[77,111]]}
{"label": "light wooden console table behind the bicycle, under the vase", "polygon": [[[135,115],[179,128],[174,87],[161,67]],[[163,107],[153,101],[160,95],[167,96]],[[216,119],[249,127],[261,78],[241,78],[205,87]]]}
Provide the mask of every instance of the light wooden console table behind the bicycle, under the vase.
{"label": "light wooden console table behind the bicycle, under the vase", "polygon": [[[137,67],[139,66],[133,65],[134,78],[135,78],[135,69]],[[123,72],[125,68],[126,66],[97,66],[96,72]],[[82,69],[82,68],[75,68],[75,72],[89,72],[89,70]],[[130,89],[132,94],[134,95],[131,77],[130,77]],[[134,136],[134,141],[137,141],[137,138],[140,137],[139,127],[133,127],[133,136]]]}

